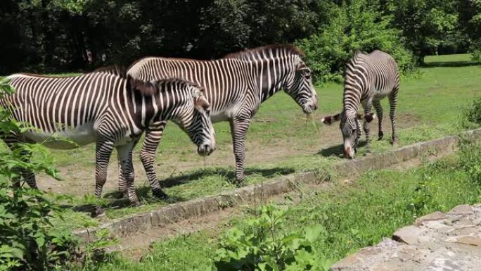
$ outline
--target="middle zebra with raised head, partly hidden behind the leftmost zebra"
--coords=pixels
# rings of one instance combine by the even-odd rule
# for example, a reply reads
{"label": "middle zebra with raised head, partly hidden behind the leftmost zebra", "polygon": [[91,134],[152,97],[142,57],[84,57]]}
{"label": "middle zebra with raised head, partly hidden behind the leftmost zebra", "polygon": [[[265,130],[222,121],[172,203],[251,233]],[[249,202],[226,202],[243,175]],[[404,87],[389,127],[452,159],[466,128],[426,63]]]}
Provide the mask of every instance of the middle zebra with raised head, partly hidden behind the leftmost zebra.
{"label": "middle zebra with raised head, partly hidden behind the leftmost zebra", "polygon": [[[281,89],[304,113],[317,109],[317,95],[304,54],[291,45],[269,45],[231,53],[214,61],[180,58],[142,58],[132,64],[129,75],[141,80],[179,77],[205,87],[213,122],[229,121],[236,158],[236,180],[244,179],[245,136],[260,104]],[[141,160],[153,188],[160,189],[153,162],[164,127],[147,130]],[[120,190],[124,189],[120,185]],[[160,195],[164,196],[164,195]]]}

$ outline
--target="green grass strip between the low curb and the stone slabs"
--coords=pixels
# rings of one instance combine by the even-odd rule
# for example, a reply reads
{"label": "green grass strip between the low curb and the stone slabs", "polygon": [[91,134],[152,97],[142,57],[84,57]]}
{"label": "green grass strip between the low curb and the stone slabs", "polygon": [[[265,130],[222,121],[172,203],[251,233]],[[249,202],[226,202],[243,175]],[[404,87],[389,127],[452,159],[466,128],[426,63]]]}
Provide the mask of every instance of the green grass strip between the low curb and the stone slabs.
{"label": "green grass strip between the low curb and the stone slabs", "polygon": [[[323,191],[301,187],[299,194],[302,201],[291,205],[285,230],[323,225],[328,235],[316,247],[334,260],[377,244],[418,216],[481,200],[479,185],[459,168],[456,156],[406,172],[366,172],[354,184],[333,183]],[[211,270],[219,236],[230,227],[242,228],[246,216],[216,230],[155,243],[140,262],[116,256],[96,270]]]}

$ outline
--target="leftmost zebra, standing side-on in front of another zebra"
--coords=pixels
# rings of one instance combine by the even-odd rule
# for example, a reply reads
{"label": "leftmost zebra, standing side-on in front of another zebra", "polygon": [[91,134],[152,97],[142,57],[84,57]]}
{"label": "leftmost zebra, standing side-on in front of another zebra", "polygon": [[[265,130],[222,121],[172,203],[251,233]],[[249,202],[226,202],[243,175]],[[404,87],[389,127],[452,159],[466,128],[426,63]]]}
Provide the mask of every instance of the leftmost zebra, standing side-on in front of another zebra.
{"label": "leftmost zebra, standing side-on in front of another zebra", "polygon": [[[30,123],[31,129],[1,135],[6,144],[15,149],[20,142],[42,142],[53,149],[72,149],[96,142],[97,197],[115,147],[127,196],[139,204],[132,149],[144,130],[155,130],[167,120],[189,135],[200,155],[210,155],[215,149],[210,104],[204,89],[195,83],[179,79],[147,82],[100,72],[75,77],[20,73],[8,79],[16,92],[0,99],[0,106],[10,109],[11,118]],[[21,175],[37,188],[33,172],[24,170]]]}

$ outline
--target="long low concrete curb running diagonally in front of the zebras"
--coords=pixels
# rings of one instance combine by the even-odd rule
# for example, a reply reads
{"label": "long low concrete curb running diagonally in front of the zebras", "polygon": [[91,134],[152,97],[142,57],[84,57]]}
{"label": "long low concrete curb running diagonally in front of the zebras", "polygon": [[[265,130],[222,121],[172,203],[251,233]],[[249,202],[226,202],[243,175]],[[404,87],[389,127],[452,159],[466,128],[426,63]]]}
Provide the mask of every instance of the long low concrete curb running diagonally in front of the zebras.
{"label": "long low concrete curb running diagonally in front of the zebras", "polygon": [[[468,139],[481,139],[481,129],[463,132],[461,136]],[[393,151],[374,153],[356,160],[344,160],[333,165],[332,170],[333,172],[349,172],[349,176],[352,176],[366,170],[388,168],[414,158],[423,158],[430,155],[442,156],[456,151],[458,141],[458,136],[448,136],[432,141],[419,142]],[[295,173],[263,184],[254,184],[233,191],[226,191],[219,195],[174,203],[129,218],[118,218],[104,223],[100,227],[77,229],[74,234],[79,237],[81,243],[92,240],[96,231],[105,228],[110,229],[111,234],[115,237],[129,237],[153,227],[164,227],[179,220],[198,218],[226,207],[238,206],[240,203],[262,201],[271,196],[293,191],[296,184],[299,183],[309,184],[324,180],[326,180],[326,176],[319,176],[316,172]]]}

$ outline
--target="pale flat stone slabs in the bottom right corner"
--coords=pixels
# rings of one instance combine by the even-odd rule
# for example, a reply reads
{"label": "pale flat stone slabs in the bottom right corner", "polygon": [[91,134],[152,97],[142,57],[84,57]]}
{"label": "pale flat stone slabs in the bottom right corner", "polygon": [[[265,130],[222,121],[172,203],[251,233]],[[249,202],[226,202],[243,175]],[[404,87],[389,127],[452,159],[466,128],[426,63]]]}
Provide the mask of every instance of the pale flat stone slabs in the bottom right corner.
{"label": "pale flat stone slabs in the bottom right corner", "polygon": [[436,212],[392,239],[340,260],[331,271],[480,271],[481,204]]}

